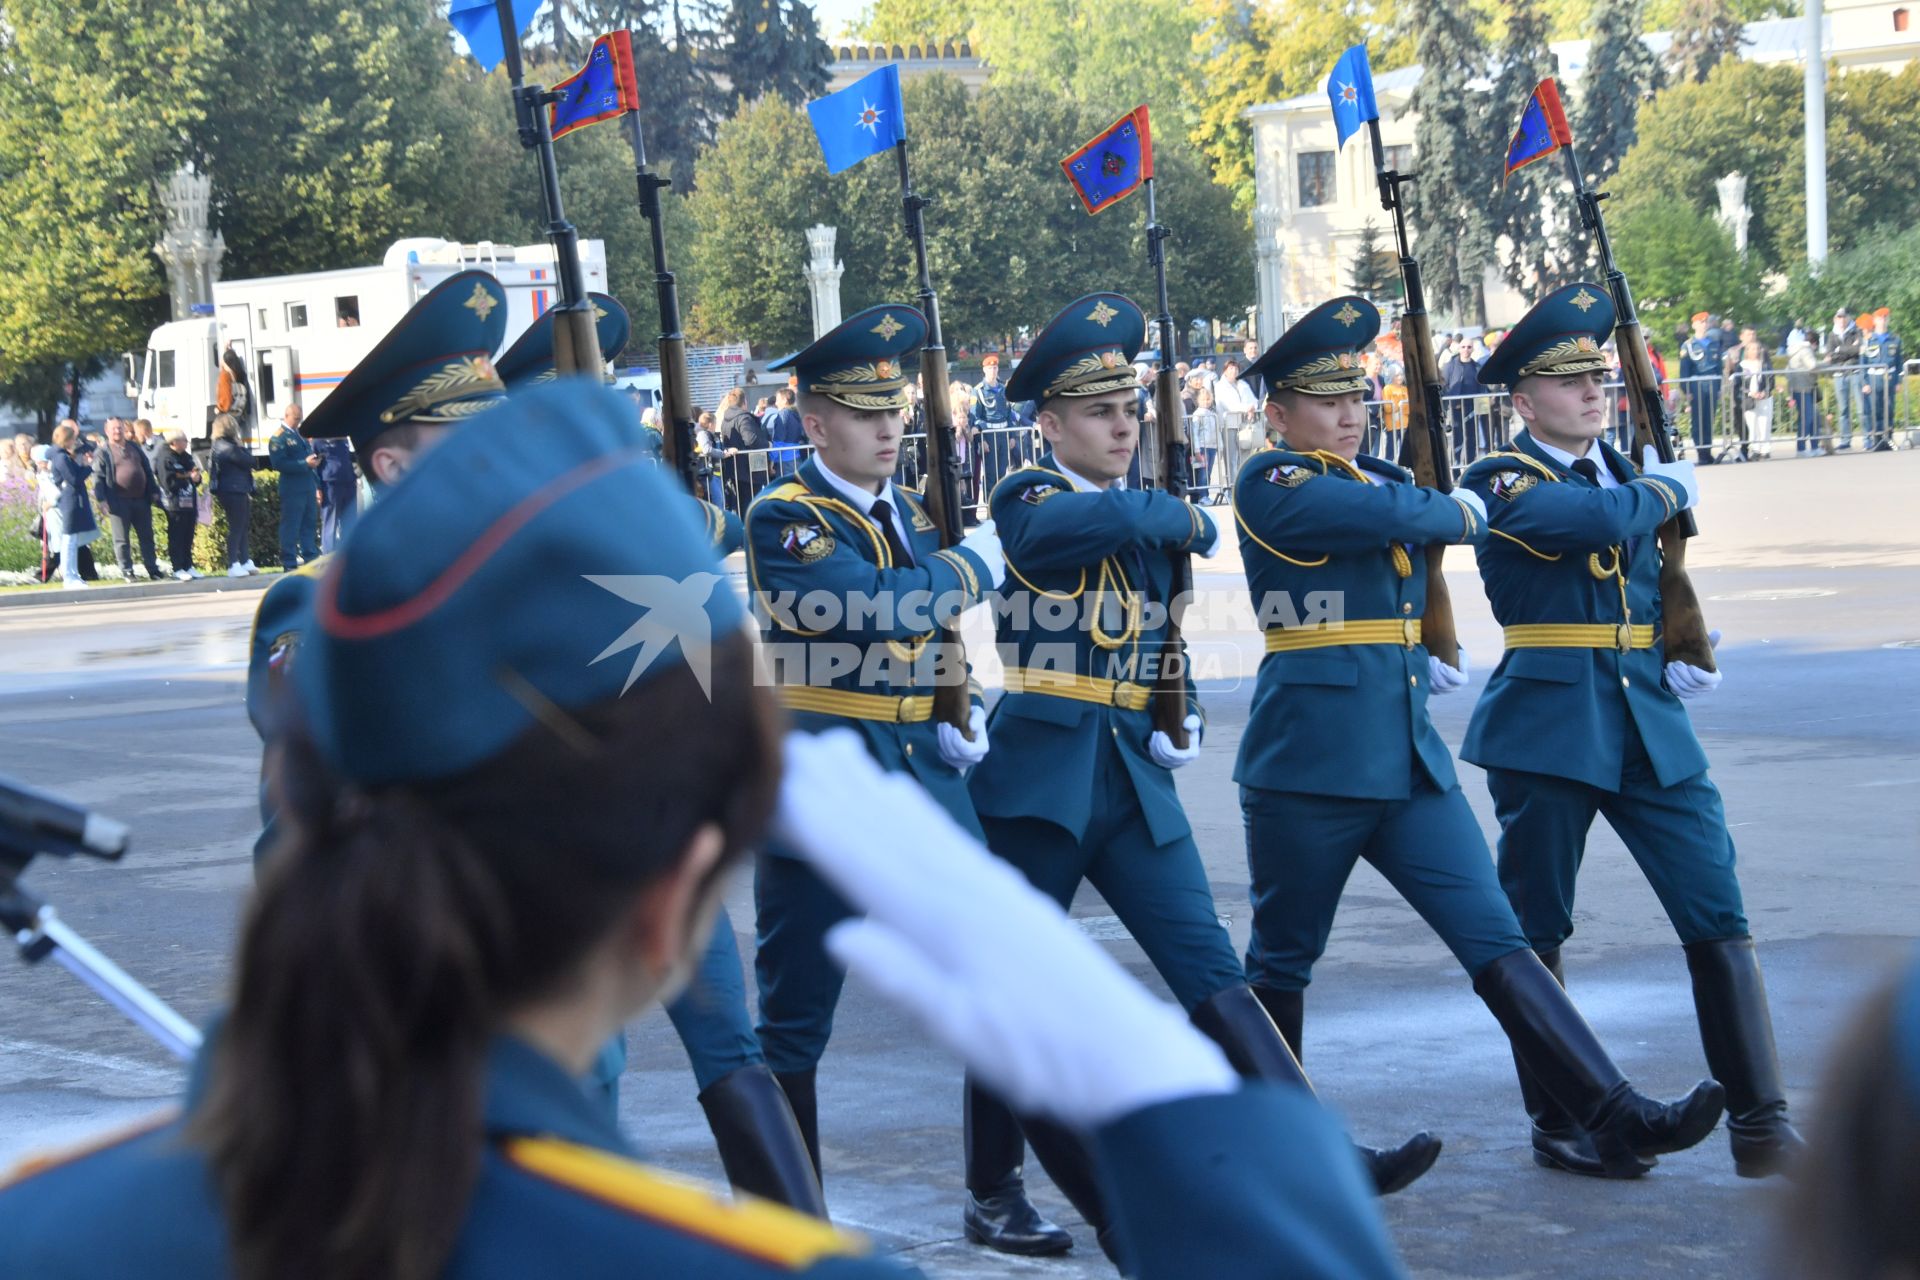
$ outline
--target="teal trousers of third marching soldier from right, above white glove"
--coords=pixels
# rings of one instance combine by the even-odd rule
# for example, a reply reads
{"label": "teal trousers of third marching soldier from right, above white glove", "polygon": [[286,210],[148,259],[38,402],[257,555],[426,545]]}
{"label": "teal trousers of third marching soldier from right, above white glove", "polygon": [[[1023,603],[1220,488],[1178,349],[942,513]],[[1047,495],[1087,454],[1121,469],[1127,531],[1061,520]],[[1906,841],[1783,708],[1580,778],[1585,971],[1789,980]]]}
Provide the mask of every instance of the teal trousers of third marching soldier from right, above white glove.
{"label": "teal trousers of third marching soldier from right, above white glove", "polygon": [[1246,975],[1213,908],[1190,835],[1154,844],[1119,748],[1102,733],[1092,821],[1081,839],[1044,818],[981,818],[987,848],[1062,908],[1091,881],[1140,944],[1181,1007],[1192,1011]]}

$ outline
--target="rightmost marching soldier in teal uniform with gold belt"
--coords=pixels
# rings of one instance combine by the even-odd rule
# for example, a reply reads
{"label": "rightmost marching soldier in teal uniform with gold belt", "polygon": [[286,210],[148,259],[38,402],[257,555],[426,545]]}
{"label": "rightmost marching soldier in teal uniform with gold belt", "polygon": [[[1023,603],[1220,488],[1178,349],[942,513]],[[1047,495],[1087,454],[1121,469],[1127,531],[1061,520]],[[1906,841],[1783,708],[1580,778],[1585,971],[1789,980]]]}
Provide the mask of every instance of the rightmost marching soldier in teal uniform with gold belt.
{"label": "rightmost marching soldier in teal uniform with gold belt", "polygon": [[[1569,284],[1526,313],[1480,370],[1486,386],[1511,390],[1526,430],[1511,453],[1488,455],[1461,478],[1488,509],[1480,581],[1505,628],[1505,654],[1461,756],[1486,768],[1500,883],[1555,977],[1594,816],[1619,833],[1686,946],[1707,1067],[1726,1086],[1734,1171],[1764,1176],[1803,1142],[1788,1123],[1720,793],[1680,706],[1720,674],[1661,662],[1655,532],[1699,489],[1690,462],[1649,457],[1634,470],[1601,439],[1599,344],[1611,330],[1607,290]],[[1524,1071],[1521,1084],[1534,1150],[1588,1173],[1578,1117]]]}

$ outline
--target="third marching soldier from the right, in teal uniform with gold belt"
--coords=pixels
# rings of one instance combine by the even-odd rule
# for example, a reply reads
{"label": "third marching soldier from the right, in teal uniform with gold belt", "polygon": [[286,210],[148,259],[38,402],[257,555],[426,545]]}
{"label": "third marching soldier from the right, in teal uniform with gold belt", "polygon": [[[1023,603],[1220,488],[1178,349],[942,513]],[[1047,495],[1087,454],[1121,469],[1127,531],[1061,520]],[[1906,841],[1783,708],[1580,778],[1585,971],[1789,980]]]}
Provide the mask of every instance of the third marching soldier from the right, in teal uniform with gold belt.
{"label": "third marching soldier from the right, in teal uniform with gold belt", "polygon": [[[1183,499],[1123,484],[1140,434],[1131,361],[1144,336],[1133,301],[1089,294],[1048,322],[1008,384],[1008,395],[1039,405],[1046,449],[993,491],[1010,581],[996,608],[1006,697],[970,789],[987,848],[1062,908],[1091,881],[1238,1071],[1306,1086],[1246,986],[1173,787],[1173,770],[1200,756],[1192,681],[1185,747],[1154,729],[1148,710],[1171,557],[1212,555],[1219,530]],[[1085,1182],[1075,1153],[1044,1130],[1027,1136],[1100,1230],[1098,1203],[1075,1186]],[[1438,1144],[1419,1134],[1361,1153],[1386,1194],[1421,1176]]]}

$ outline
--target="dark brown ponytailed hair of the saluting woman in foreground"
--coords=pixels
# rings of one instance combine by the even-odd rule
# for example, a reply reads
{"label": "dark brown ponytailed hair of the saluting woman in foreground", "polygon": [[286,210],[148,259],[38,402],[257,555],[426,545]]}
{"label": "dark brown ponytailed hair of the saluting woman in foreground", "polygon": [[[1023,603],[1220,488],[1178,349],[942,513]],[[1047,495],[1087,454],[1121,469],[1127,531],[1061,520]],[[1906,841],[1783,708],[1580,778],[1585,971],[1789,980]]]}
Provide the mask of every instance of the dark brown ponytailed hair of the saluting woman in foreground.
{"label": "dark brown ponytailed hair of the saluting woman in foreground", "polygon": [[282,837],[248,912],[192,1140],[244,1278],[438,1276],[482,1161],[488,1042],[716,823],[722,875],[780,783],[747,635],[486,764],[353,787],[271,748]]}

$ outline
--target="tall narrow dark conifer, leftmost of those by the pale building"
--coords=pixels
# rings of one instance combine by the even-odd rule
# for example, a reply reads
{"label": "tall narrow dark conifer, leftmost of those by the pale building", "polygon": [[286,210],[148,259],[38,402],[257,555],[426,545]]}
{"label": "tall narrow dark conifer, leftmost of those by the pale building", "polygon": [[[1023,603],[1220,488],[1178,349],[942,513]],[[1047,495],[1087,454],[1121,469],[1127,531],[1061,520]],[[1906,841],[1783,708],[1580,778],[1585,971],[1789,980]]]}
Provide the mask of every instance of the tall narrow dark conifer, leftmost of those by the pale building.
{"label": "tall narrow dark conifer, leftmost of those by the pale building", "polygon": [[1486,313],[1486,267],[1494,236],[1486,211],[1482,117],[1486,96],[1471,88],[1488,61],[1473,10],[1455,0],[1409,0],[1402,21],[1413,31],[1425,71],[1413,88],[1419,182],[1407,215],[1413,225],[1428,303],[1459,322]]}

